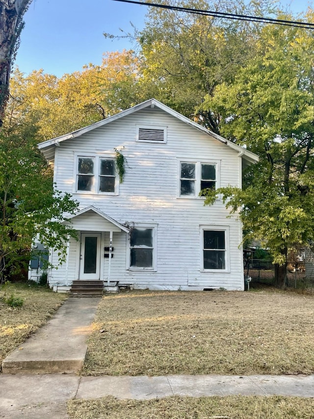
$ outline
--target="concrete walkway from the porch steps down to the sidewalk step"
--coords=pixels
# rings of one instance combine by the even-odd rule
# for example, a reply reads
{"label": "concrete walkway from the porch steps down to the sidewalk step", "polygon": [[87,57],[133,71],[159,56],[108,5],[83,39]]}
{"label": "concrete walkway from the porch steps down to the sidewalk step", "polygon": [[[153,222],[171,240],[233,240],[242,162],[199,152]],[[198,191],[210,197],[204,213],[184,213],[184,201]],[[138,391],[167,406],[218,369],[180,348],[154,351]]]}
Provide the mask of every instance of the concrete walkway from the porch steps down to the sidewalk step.
{"label": "concrete walkway from the porch steps down to the sidewalk step", "polygon": [[45,326],[5,358],[2,372],[78,372],[99,302],[100,298],[68,298]]}

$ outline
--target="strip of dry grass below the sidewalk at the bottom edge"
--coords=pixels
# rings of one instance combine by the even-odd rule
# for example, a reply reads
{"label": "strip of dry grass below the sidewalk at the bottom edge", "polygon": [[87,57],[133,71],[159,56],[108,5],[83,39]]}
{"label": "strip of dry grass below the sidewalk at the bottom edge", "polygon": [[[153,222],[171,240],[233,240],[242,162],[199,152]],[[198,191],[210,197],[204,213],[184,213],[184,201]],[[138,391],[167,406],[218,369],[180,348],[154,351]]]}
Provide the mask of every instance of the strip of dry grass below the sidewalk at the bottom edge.
{"label": "strip of dry grass below the sidewalk at the bottom edge", "polygon": [[70,400],[72,419],[313,419],[314,399],[301,397],[168,397],[161,400]]}

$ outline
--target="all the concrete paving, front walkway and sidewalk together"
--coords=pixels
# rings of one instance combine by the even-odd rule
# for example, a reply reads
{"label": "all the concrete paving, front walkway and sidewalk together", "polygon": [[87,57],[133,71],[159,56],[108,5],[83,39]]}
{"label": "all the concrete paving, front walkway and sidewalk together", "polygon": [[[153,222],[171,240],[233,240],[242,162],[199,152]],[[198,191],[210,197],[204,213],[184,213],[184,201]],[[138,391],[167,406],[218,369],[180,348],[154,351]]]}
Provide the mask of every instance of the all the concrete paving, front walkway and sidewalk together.
{"label": "all the concrete paving, front walkway and sidewalk together", "polygon": [[0,418],[64,419],[67,400],[105,395],[137,400],[230,394],[314,397],[314,375],[79,377],[98,303],[98,298],[69,298],[3,361]]}

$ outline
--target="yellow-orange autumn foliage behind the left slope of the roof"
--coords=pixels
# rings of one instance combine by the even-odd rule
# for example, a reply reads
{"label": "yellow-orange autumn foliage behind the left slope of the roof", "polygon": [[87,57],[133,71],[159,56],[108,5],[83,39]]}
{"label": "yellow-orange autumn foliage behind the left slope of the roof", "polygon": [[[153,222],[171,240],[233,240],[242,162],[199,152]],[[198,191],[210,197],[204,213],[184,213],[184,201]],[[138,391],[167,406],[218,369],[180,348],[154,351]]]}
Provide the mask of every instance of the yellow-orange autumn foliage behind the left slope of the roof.
{"label": "yellow-orange autumn foliage behind the left slope of the roof", "polygon": [[37,142],[100,121],[138,103],[138,59],[131,51],[108,52],[102,65],[58,79],[43,70],[13,73],[6,120],[32,120]]}

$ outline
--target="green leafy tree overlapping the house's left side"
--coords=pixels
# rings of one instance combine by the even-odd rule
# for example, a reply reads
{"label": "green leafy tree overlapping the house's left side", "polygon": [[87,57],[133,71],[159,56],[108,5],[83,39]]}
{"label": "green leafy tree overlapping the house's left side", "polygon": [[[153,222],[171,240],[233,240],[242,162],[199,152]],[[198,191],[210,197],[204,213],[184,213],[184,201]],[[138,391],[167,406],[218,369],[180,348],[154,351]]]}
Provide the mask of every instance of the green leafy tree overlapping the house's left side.
{"label": "green leafy tree overlapping the house's left side", "polygon": [[54,189],[51,168],[32,140],[34,126],[0,133],[0,282],[29,261],[32,240],[59,249],[65,257],[71,226],[62,224],[77,203]]}

